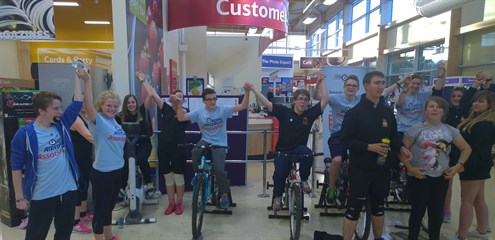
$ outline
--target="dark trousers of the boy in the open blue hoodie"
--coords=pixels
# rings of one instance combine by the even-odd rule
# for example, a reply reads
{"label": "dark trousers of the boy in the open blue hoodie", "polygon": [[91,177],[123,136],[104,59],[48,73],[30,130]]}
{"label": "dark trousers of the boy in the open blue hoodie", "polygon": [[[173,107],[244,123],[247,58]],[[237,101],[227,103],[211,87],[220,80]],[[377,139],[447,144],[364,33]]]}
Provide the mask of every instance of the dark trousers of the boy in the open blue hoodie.
{"label": "dark trousers of the boy in the open blue hoodie", "polygon": [[77,191],[43,200],[31,200],[26,240],[46,239],[52,220],[55,226],[55,240],[69,240],[74,225]]}

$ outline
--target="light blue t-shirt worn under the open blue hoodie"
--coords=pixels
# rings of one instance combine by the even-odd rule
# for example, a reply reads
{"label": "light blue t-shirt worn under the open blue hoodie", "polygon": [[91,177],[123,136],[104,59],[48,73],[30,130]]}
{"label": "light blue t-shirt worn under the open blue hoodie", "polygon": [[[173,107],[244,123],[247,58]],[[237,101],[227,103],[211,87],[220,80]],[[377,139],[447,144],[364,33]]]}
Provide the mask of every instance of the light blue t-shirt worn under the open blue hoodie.
{"label": "light blue t-shirt worn under the open blue hoodie", "polygon": [[49,129],[34,123],[38,138],[38,169],[32,200],[44,200],[77,189],[62,137],[55,126]]}

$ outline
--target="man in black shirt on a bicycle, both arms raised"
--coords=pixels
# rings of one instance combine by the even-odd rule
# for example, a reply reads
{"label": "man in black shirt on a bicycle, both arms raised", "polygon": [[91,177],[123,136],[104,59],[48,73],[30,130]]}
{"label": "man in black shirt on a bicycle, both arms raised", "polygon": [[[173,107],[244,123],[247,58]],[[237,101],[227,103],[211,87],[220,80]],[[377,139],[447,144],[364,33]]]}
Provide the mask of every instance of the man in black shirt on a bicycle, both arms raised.
{"label": "man in black shirt on a bicycle, both arms raised", "polygon": [[[248,84],[248,90],[253,91],[256,98],[265,106],[268,111],[272,112],[280,122],[279,138],[275,147],[276,152],[286,154],[311,154],[312,151],[306,144],[308,142],[309,132],[313,122],[323,113],[323,110],[328,104],[328,93],[324,79],[319,79],[321,82],[320,96],[321,101],[310,107],[309,92],[306,89],[298,89],[294,92],[294,104],[292,108],[284,107],[280,104],[273,104],[263,96],[260,92],[254,89],[252,84]],[[313,165],[313,158],[302,159],[300,162],[299,171],[301,173],[302,188],[305,193],[310,193],[311,188],[308,184],[308,178]],[[277,212],[281,209],[281,197],[284,192],[284,181],[289,175],[291,162],[290,159],[284,156],[275,157],[275,171],[273,173],[273,211]]]}

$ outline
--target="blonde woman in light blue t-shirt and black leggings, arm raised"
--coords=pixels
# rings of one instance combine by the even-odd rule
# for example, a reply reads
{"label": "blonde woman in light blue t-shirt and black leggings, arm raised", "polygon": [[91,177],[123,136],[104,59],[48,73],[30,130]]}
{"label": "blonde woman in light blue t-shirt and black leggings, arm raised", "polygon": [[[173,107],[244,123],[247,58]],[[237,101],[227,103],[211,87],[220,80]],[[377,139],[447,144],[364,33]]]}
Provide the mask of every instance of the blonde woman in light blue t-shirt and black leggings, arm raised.
{"label": "blonde woman in light blue t-shirt and black leggings, arm raised", "polygon": [[126,135],[115,120],[119,111],[120,98],[111,91],[103,91],[94,102],[91,77],[86,71],[78,76],[87,79],[84,86],[84,106],[89,119],[89,130],[93,135],[95,161],[91,171],[93,186],[94,215],[93,233],[95,240],[119,240],[112,235],[112,210],[121,185],[124,166],[124,144]]}

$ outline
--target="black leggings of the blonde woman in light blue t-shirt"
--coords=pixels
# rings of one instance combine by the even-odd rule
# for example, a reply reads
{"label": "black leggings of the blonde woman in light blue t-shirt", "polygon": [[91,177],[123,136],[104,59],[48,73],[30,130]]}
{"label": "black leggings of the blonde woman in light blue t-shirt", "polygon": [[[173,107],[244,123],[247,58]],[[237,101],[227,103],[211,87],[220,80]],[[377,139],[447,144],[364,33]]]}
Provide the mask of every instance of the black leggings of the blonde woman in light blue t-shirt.
{"label": "black leggings of the blonde woman in light blue t-shirt", "polygon": [[104,226],[112,225],[112,211],[120,190],[121,172],[121,169],[100,172],[94,168],[91,172],[95,201],[92,226],[95,234],[102,234]]}

